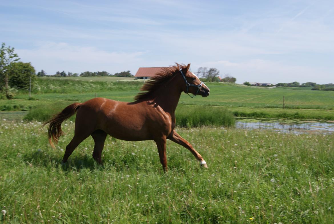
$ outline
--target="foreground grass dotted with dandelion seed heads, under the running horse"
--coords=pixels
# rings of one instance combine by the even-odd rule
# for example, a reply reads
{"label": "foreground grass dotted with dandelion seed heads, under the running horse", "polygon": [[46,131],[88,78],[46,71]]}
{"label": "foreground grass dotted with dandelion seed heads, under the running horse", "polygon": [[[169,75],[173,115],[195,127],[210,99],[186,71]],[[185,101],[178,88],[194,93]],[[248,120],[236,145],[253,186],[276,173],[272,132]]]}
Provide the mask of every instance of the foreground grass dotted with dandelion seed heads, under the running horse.
{"label": "foreground grass dotted with dandelion seed heads, under the running horse", "polygon": [[0,126],[2,223],[334,223],[334,135],[180,129],[207,161],[168,142],[108,137],[103,166],[88,138],[59,162],[74,124],[52,149],[36,122]]}

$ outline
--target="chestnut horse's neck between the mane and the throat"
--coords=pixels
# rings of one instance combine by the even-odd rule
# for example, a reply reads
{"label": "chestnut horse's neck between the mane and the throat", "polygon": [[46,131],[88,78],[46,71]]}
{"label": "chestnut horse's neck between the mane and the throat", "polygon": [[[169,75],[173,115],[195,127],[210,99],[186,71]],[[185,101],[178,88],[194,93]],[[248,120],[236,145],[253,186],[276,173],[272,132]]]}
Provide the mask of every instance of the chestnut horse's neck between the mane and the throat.
{"label": "chestnut horse's neck between the mane and the throat", "polygon": [[157,92],[155,102],[163,108],[163,110],[171,115],[174,114],[182,91],[176,85],[167,85]]}

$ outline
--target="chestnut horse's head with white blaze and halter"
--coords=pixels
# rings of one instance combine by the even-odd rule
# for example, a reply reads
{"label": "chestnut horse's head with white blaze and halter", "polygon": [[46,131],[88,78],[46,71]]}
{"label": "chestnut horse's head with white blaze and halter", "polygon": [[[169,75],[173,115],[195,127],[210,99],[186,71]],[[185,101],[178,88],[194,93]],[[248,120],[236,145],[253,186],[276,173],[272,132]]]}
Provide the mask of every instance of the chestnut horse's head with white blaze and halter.
{"label": "chestnut horse's head with white blaze and halter", "polygon": [[192,72],[189,71],[190,64],[180,68],[179,72],[184,80],[182,91],[185,93],[192,93],[194,95],[200,94],[206,97],[210,94],[210,89]]}

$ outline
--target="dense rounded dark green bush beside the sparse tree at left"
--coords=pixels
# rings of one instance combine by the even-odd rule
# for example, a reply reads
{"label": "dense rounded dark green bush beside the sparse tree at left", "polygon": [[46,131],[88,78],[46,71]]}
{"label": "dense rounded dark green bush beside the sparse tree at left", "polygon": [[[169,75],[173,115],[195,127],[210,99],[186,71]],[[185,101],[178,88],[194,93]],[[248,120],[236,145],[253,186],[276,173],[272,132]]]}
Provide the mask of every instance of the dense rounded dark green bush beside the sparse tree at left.
{"label": "dense rounded dark green bush beside the sparse tree at left", "polygon": [[16,62],[12,64],[10,70],[9,85],[20,89],[29,89],[31,77],[31,87],[35,81],[35,68],[29,63]]}

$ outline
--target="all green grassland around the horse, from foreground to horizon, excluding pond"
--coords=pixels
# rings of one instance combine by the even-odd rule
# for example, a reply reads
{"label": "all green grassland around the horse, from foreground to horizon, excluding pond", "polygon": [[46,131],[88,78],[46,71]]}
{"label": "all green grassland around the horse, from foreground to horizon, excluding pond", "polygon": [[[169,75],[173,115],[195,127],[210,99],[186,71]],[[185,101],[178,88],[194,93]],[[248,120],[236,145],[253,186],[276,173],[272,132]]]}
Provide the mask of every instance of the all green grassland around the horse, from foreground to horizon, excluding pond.
{"label": "all green grassland around the horse, from foreground to horizon, excluding pond", "polygon": [[0,100],[2,223],[334,223],[333,134],[231,128],[234,116],[334,120],[334,92],[207,83],[209,97],[182,94],[176,129],[207,169],[168,141],[164,173],[153,141],[110,136],[102,166],[91,137],[61,164],[75,116],[56,149],[43,121],[95,96],[133,101],[142,85],[95,78],[39,78],[32,97]]}

